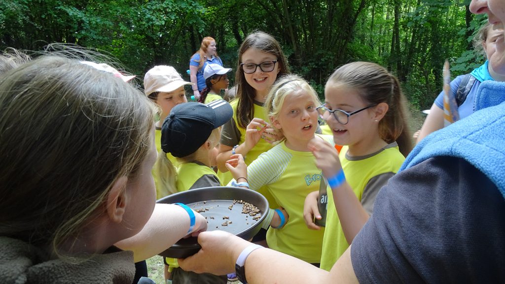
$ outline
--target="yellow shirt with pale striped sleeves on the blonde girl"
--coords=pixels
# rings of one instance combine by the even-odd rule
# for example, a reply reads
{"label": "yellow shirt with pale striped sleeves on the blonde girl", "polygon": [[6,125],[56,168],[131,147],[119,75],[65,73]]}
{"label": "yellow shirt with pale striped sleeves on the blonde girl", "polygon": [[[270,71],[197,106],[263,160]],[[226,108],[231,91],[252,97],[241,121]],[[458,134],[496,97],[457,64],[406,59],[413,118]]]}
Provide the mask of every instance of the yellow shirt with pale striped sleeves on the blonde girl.
{"label": "yellow shirt with pale striped sleeves on the blonde girl", "polygon": [[[333,145],[333,136],[317,136]],[[312,152],[291,150],[283,141],[247,167],[247,179],[252,190],[265,186],[289,214],[289,220],[283,228],[268,229],[269,248],[309,263],[319,263],[324,228],[320,231],[310,230],[304,220],[305,198],[309,193],[319,190],[322,181],[321,169],[316,167]]]}

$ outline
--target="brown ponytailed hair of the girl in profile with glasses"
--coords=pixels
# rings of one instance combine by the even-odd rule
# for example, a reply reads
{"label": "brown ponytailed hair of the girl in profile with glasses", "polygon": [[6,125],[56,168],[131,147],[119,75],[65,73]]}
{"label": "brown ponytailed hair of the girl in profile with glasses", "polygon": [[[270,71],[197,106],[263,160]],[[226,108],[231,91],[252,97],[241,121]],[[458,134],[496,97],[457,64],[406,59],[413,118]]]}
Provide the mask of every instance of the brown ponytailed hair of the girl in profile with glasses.
{"label": "brown ponytailed hair of the girl in profile with glasses", "polygon": [[387,143],[396,141],[403,156],[410,153],[413,144],[406,100],[394,75],[375,63],[352,62],[335,70],[328,84],[356,88],[361,98],[370,104],[387,103],[389,109],[379,122],[379,135]]}

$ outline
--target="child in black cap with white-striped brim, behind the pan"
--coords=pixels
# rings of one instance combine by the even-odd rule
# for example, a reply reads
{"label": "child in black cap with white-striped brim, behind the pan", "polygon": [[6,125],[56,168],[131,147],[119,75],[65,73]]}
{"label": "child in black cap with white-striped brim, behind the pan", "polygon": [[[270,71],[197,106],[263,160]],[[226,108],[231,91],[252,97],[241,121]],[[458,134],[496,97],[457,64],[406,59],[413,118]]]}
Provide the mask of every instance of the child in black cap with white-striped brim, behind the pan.
{"label": "child in black cap with white-striped brim, behind the pan", "polygon": [[[161,147],[157,165],[160,186],[165,192],[222,186],[213,166],[216,165],[221,126],[231,119],[233,110],[224,100],[209,104],[188,102],[176,105],[162,127]],[[170,153],[177,158],[177,175],[167,171],[173,167],[167,158]],[[237,177],[238,178],[238,177]],[[176,181],[171,182],[171,181]],[[175,185],[175,186],[174,186]],[[178,267],[177,259],[165,258],[165,279],[176,283],[227,283],[226,275],[196,274]]]}

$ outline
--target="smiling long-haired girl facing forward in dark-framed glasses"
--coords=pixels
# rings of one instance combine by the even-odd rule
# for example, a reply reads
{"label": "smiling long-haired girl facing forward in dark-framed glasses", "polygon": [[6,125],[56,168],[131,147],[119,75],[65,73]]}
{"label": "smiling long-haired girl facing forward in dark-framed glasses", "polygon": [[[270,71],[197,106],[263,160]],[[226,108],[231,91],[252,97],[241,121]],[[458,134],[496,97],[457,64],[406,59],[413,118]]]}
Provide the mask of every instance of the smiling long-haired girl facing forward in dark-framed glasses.
{"label": "smiling long-haired girl facing forward in dark-framed glasses", "polygon": [[[230,102],[233,119],[223,126],[220,154],[217,157],[218,176],[223,183],[231,180],[225,166],[232,154],[242,154],[250,164],[261,153],[272,148],[270,143],[280,139],[277,132],[267,123],[263,109],[265,97],[277,77],[289,73],[289,66],[279,42],[264,32],[249,34],[238,52],[235,82],[238,86],[237,99]],[[264,194],[272,208],[277,203],[266,191]]]}

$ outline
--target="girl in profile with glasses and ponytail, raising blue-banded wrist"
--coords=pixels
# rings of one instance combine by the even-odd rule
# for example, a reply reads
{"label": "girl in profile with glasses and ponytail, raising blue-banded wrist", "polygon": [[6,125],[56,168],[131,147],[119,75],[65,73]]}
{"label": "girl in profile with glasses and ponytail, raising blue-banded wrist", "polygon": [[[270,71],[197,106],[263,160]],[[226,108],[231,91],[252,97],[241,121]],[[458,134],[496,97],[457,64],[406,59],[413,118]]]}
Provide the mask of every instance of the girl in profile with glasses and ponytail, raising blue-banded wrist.
{"label": "girl in profile with glasses and ponytail, raising blue-banded wrist", "polygon": [[[354,62],[338,68],[325,87],[319,116],[333,131],[332,145],[313,141],[316,164],[328,179],[328,212],[321,268],[330,270],[372,214],[375,196],[412,149],[405,99],[383,67]],[[319,230],[318,192],[307,196],[307,226]],[[338,215],[337,215],[338,214]]]}

